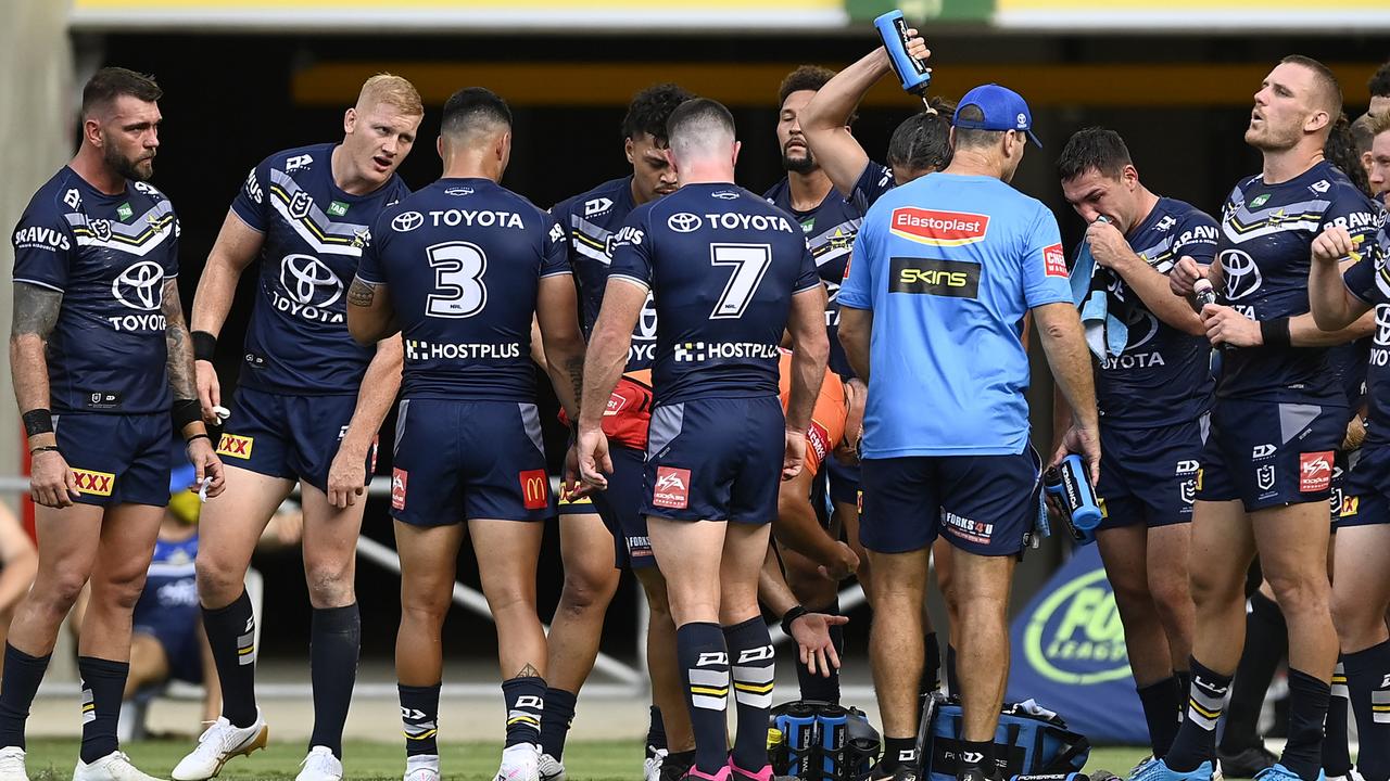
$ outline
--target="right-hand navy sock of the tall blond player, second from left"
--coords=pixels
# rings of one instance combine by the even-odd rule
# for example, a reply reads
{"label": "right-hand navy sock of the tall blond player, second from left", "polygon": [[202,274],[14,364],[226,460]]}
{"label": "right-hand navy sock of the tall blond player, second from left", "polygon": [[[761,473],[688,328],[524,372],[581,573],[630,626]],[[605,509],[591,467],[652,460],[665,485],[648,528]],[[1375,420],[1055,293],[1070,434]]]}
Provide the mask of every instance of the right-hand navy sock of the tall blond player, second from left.
{"label": "right-hand navy sock of the tall blond player, second from left", "polygon": [[361,617],[357,603],[314,609],[309,630],[309,675],[314,687],[314,732],[309,748],[328,746],[343,756],[343,724],[357,682]]}

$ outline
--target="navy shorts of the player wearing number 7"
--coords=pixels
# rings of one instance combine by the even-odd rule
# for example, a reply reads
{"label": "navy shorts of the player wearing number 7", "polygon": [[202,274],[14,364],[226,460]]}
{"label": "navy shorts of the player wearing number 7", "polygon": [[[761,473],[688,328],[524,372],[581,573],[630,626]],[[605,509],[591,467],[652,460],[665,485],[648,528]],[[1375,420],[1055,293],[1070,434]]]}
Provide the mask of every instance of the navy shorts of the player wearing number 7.
{"label": "navy shorts of the player wearing number 7", "polygon": [[766,524],[777,517],[787,422],[777,396],[692,399],[652,411],[644,516]]}

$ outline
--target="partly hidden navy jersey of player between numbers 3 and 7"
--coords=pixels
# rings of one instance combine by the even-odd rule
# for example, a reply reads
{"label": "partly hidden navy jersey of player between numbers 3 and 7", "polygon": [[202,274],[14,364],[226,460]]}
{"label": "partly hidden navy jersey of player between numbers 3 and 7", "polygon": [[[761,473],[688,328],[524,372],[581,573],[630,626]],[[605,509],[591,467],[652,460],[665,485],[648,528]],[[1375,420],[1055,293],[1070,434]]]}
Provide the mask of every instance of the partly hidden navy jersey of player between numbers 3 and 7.
{"label": "partly hidden navy jersey of player between numbers 3 and 7", "polygon": [[[580,325],[584,338],[594,331],[607,285],[609,264],[613,261],[613,236],[632,213],[632,176],[603,182],[592,190],[562,200],[550,208],[555,220],[567,231],[570,268],[580,293]],[[642,304],[642,315],[632,329],[632,345],[627,350],[626,371],[652,368],[656,354],[656,306],[652,296]]]}

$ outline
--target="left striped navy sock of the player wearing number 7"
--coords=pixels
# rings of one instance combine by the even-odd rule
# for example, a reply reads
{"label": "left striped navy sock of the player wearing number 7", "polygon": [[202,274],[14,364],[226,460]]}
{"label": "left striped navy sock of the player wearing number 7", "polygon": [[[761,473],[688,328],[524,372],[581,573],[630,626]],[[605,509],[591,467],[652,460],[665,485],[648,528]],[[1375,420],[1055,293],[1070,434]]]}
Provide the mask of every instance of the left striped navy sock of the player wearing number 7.
{"label": "left striped navy sock of the player wearing number 7", "polygon": [[[695,767],[714,775],[728,763],[728,648],[719,624],[695,621],[676,630],[676,656],[695,732]],[[763,730],[767,730],[766,721]],[[759,767],[758,770],[762,770]]]}

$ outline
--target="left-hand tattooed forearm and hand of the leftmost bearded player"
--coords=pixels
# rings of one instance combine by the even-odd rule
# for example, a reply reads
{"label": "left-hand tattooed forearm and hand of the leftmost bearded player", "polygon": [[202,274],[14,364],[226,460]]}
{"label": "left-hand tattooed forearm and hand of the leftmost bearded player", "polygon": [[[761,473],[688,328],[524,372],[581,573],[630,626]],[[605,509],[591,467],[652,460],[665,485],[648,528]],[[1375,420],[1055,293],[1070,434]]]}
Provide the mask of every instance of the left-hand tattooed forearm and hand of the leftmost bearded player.
{"label": "left-hand tattooed forearm and hand of the leftmost bearded player", "polygon": [[[47,410],[47,345],[63,309],[63,293],[28,282],[14,283],[14,322],[10,328],[10,372],[21,413]],[[51,431],[29,436],[29,450],[57,447]],[[29,498],[44,507],[70,507],[78,496],[78,478],[57,450],[33,452],[29,467]]]}

